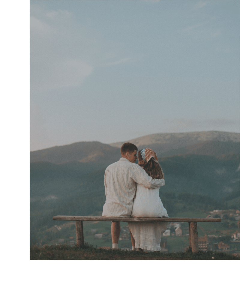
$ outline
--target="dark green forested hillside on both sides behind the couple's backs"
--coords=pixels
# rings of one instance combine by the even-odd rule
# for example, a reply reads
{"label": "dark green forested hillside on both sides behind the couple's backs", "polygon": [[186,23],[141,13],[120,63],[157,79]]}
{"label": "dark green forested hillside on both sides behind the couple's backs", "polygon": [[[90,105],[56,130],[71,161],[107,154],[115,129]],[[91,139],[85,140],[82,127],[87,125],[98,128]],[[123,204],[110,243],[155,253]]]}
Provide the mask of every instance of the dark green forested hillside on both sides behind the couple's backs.
{"label": "dark green forested hillside on both sides behind the couple's backs", "polygon": [[[160,197],[169,216],[174,217],[178,211],[239,209],[238,155],[171,156],[160,158],[159,163],[165,174],[165,186],[160,188]],[[42,163],[42,168],[48,168],[47,173],[37,164],[33,165],[36,166],[30,182],[32,243],[39,241],[44,229],[57,224],[57,221],[52,222],[52,216],[101,215],[106,199],[105,167],[81,175],[78,169],[70,173],[61,165]],[[232,199],[235,202],[228,205]]]}

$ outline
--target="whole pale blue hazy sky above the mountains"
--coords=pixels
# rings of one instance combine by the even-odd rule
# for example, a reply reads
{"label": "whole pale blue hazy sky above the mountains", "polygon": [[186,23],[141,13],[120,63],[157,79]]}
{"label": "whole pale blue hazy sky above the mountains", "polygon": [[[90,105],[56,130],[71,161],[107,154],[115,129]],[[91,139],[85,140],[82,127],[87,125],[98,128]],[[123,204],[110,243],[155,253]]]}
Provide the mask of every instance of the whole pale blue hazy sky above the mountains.
{"label": "whole pale blue hazy sky above the mountains", "polygon": [[30,151],[239,133],[239,1],[30,1]]}

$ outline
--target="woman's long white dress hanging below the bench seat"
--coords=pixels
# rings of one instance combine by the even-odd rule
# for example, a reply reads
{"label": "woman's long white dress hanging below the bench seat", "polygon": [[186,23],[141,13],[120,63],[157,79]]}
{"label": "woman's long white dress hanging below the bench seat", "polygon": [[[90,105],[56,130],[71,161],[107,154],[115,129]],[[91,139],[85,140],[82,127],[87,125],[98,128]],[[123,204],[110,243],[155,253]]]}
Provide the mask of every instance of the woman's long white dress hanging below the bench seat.
{"label": "woman's long white dress hanging below the bench seat", "polygon": [[[164,179],[163,185],[164,185]],[[132,217],[168,217],[167,210],[159,197],[159,188],[149,189],[137,184]],[[168,222],[128,222],[135,239],[135,248],[160,251],[161,234],[167,229]]]}

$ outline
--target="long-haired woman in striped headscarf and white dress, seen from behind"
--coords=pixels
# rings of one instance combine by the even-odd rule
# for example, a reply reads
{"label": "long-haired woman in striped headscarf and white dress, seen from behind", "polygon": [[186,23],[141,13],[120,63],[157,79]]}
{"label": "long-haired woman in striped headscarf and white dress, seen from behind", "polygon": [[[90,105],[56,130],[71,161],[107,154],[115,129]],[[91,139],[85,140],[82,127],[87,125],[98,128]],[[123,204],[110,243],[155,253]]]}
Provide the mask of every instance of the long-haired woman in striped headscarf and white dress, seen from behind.
{"label": "long-haired woman in striped headscarf and white dress, seen from behind", "polygon": [[[157,154],[152,149],[145,148],[138,152],[138,164],[153,179],[162,179],[162,185],[165,184]],[[137,184],[131,216],[168,217],[167,210],[159,197],[159,189],[149,189]],[[133,247],[138,251],[160,251],[161,233],[166,230],[167,224],[168,222],[128,222]]]}

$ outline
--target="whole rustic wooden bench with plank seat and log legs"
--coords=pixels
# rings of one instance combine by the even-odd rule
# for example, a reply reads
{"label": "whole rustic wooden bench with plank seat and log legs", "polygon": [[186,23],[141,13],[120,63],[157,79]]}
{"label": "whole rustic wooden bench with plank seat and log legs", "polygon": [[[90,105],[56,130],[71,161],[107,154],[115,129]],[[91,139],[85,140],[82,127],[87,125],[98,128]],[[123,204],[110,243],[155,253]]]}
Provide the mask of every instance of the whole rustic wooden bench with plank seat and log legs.
{"label": "whole rustic wooden bench with plank seat and log legs", "polygon": [[140,217],[102,217],[102,216],[53,216],[52,220],[76,221],[76,244],[84,244],[82,221],[122,221],[122,222],[188,222],[189,247],[198,251],[197,222],[221,222],[221,218],[140,218]]}

